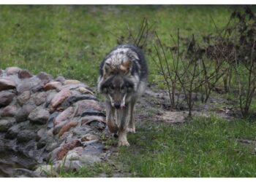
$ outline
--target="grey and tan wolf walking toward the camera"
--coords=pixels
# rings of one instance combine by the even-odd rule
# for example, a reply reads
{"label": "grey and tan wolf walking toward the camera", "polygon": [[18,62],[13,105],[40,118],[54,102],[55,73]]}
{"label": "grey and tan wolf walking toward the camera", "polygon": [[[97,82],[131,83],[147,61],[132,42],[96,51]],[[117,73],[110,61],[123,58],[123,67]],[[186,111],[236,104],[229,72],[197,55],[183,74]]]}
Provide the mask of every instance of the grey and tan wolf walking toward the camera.
{"label": "grey and tan wolf walking toward the camera", "polygon": [[118,146],[129,146],[127,132],[135,132],[135,103],[147,81],[143,51],[134,45],[118,45],[99,66],[97,91],[105,97],[106,123],[118,135]]}

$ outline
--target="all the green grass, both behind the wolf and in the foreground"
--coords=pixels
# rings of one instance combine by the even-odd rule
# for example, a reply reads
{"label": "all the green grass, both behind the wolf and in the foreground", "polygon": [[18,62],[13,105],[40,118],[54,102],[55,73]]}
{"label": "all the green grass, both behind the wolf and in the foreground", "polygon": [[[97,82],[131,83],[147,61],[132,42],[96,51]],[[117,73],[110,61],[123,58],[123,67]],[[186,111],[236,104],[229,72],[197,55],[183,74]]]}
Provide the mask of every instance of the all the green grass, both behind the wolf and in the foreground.
{"label": "all the green grass, both behind the wolf and in the foreground", "polygon": [[[96,85],[100,61],[127,36],[127,26],[138,31],[143,17],[156,23],[164,43],[177,28],[181,36],[214,32],[227,23],[238,7],[227,6],[0,6],[0,68],[18,66],[33,74],[46,71]],[[241,7],[239,7],[241,8]],[[157,68],[148,58],[150,82],[159,82]],[[256,104],[254,105],[256,106]],[[149,115],[148,115],[149,117]],[[109,163],[84,168],[61,177],[88,177],[116,170],[137,177],[249,177],[256,176],[255,122],[227,122],[196,118],[180,125],[143,122],[129,135],[129,148],[118,149]]]}

